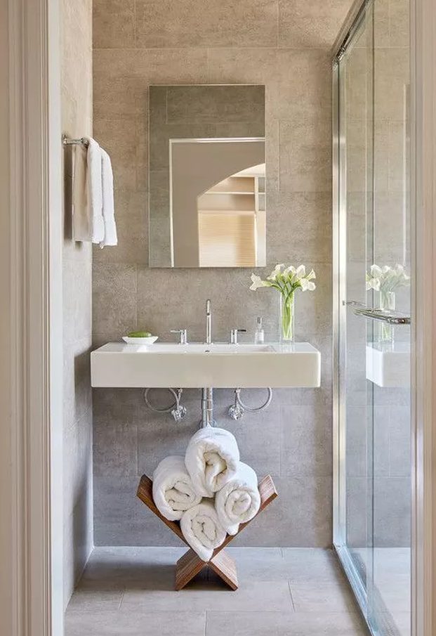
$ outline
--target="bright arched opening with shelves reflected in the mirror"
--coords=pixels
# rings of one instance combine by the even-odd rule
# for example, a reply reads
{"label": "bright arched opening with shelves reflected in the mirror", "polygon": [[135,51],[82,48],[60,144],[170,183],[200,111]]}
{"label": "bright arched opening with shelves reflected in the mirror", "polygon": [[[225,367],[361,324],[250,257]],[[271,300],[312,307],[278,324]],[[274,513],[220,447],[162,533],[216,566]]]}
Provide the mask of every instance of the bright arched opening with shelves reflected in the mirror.
{"label": "bright arched opening with shelves reflected in the mirror", "polygon": [[216,183],[197,199],[200,267],[265,264],[265,164]]}

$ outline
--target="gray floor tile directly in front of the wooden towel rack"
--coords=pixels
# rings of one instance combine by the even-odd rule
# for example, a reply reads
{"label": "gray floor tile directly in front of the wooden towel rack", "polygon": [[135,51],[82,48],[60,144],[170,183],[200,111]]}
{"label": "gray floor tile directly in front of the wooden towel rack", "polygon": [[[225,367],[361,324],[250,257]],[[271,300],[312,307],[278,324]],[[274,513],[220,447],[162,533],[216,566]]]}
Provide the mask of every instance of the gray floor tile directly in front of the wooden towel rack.
{"label": "gray floor tile directly in front of the wooden towel rack", "polygon": [[232,592],[214,576],[204,584],[180,592],[160,590],[126,590],[121,612],[133,611],[252,611],[266,606],[269,611],[293,611],[291,595],[285,581],[253,580]]}

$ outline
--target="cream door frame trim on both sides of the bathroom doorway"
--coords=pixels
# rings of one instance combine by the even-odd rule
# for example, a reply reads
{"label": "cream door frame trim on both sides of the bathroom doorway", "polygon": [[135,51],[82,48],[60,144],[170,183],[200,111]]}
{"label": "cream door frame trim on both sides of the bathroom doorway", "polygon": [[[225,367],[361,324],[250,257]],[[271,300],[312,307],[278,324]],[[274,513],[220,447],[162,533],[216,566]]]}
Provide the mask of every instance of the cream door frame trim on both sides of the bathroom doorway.
{"label": "cream door frame trim on both sides of the bathroom doorway", "polygon": [[[434,636],[436,4],[412,7],[414,636]],[[0,0],[0,616],[11,636],[62,635],[59,27],[58,0]]]}

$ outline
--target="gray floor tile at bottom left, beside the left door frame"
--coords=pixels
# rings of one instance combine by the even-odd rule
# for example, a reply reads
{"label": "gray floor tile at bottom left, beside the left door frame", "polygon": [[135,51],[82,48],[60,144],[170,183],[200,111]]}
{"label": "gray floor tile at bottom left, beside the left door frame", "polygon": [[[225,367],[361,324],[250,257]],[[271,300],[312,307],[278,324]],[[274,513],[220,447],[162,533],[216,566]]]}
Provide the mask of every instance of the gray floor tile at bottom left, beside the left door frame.
{"label": "gray floor tile at bottom left, beside the left door frame", "polygon": [[204,636],[205,614],[193,612],[74,613],[67,611],[65,636]]}

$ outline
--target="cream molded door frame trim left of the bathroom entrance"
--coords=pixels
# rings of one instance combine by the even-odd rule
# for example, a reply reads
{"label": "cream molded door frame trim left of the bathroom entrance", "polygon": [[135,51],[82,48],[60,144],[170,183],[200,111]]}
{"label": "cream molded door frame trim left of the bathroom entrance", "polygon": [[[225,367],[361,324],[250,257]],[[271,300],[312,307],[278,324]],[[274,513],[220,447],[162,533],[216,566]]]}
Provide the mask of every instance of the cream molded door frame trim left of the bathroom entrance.
{"label": "cream molded door frame trim left of the bathroom entrance", "polygon": [[0,616],[8,636],[63,630],[59,27],[59,0],[0,0]]}

